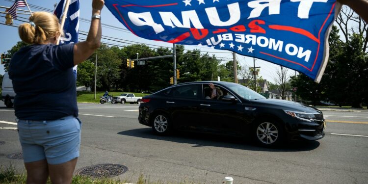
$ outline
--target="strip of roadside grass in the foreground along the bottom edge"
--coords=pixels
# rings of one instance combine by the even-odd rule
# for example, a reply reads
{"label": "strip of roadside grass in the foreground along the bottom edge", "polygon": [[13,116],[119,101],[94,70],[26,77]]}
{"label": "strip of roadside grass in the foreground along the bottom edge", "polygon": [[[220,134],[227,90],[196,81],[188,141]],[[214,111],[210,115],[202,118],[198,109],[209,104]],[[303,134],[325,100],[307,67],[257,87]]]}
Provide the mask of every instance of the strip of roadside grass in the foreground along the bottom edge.
{"label": "strip of roadside grass in the foreground along the bottom edge", "polygon": [[[150,177],[145,177],[142,174],[139,175],[136,182],[130,182],[129,180],[119,181],[109,178],[91,178],[86,176],[73,176],[72,184],[193,184],[192,182],[184,183],[170,183],[170,182],[151,182]],[[26,184],[26,174],[18,173],[14,166],[3,167],[0,165],[0,184]],[[50,179],[47,184],[52,184]]]}

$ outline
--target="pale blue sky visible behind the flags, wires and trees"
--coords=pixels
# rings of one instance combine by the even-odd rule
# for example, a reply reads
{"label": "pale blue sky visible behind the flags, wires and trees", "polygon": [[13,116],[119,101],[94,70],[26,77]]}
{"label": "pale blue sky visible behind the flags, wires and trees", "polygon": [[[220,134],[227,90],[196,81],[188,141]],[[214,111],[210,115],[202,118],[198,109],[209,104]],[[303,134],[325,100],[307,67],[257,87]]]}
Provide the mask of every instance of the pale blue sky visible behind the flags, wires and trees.
{"label": "pale blue sky visible behind the flags, wires and trees", "polygon": [[[53,11],[54,4],[58,3],[59,0],[27,0],[31,11]],[[3,6],[9,7],[14,3],[14,0],[0,0],[0,12],[4,12],[5,9]],[[92,0],[80,0],[80,18],[85,20],[91,20],[92,15]],[[39,9],[44,8],[44,10]],[[21,7],[19,9],[27,10],[26,7]],[[14,20],[14,26],[7,26],[3,25],[5,24],[5,14],[0,13],[0,53],[7,52],[10,50],[14,45],[17,44],[17,42],[21,41],[18,35],[18,28],[17,26],[24,24],[25,22],[21,21],[27,21],[29,15],[19,14],[21,11],[18,12],[18,20]],[[124,39],[128,41],[124,41],[127,43],[118,43],[110,40],[102,40],[103,42],[108,42],[116,45],[131,45],[135,44],[134,42],[144,43],[144,44],[151,44],[156,46],[162,46],[162,47],[173,47],[173,44],[165,43],[165,42],[158,42],[158,41],[152,41],[147,40],[144,38],[140,38],[132,34],[130,31],[126,29],[126,27],[121,24],[113,15],[112,13],[104,7],[101,13],[101,21],[102,24],[105,24],[106,26],[102,27],[102,34],[104,36],[110,36],[114,38]],[[79,31],[88,31],[90,24],[86,21],[80,21],[79,23]],[[85,38],[86,36],[83,36]],[[150,46],[155,47],[156,46]],[[226,61],[233,59],[233,54],[230,51],[224,51],[224,50],[215,50],[211,49],[205,46],[185,46],[185,49],[187,50],[193,50],[193,49],[200,49],[202,53],[208,52],[210,55],[215,54],[217,57],[223,57],[223,63]],[[246,66],[246,67],[253,67],[253,57],[243,56],[243,55],[237,55],[237,60],[240,66]],[[263,79],[267,79],[270,82],[275,83],[274,79],[276,77],[276,71],[280,70],[279,65],[275,65],[273,63],[256,59],[255,61],[256,67],[260,68],[260,75],[263,77]],[[4,68],[3,65],[0,65],[0,74],[4,74]],[[289,75],[295,75],[295,72],[291,69],[289,69]],[[238,75],[239,78],[239,75]]]}

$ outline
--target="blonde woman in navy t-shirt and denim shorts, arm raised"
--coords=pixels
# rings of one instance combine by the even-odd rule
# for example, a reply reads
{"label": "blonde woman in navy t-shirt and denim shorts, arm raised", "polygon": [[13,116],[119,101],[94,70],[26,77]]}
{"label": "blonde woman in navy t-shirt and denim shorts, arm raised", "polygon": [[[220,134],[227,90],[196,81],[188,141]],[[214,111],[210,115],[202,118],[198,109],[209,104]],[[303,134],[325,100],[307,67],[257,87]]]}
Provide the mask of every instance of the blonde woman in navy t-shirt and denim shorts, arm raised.
{"label": "blonde woman in navy t-shirt and denim shorts, arm raised", "polygon": [[16,96],[14,110],[27,171],[27,184],[70,184],[79,157],[80,128],[76,82],[72,68],[101,45],[101,9],[92,1],[87,40],[55,45],[62,28],[51,13],[35,12],[19,26],[30,44],[15,53],[9,65]]}

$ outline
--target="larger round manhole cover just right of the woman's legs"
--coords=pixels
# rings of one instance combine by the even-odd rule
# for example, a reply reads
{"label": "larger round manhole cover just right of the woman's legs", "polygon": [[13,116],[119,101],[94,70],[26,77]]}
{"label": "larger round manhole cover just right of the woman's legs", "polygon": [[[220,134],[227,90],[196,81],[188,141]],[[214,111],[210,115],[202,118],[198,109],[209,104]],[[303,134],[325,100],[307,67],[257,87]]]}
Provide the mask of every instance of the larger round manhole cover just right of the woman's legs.
{"label": "larger round manhole cover just right of the woman's legs", "polygon": [[108,178],[121,175],[128,171],[128,167],[120,164],[98,164],[79,169],[76,174],[94,178]]}

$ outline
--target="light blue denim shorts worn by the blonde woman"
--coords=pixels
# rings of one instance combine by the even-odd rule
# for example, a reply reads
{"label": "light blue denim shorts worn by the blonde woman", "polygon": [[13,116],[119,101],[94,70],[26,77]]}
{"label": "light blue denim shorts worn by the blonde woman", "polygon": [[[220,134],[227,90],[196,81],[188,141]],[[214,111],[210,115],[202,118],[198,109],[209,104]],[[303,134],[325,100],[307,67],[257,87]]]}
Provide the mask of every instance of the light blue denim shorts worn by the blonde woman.
{"label": "light blue denim shorts worn by the blonde woman", "polygon": [[54,165],[79,157],[81,122],[78,118],[17,121],[25,163],[47,159]]}

